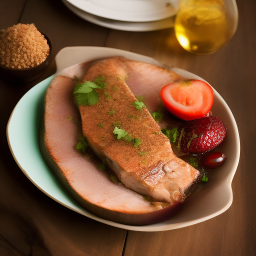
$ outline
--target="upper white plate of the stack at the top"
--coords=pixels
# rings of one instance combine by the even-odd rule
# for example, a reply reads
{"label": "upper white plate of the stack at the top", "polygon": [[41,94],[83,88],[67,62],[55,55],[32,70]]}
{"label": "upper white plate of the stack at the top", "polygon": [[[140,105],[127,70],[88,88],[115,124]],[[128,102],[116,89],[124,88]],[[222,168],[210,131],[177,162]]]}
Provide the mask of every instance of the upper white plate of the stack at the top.
{"label": "upper white plate of the stack at the top", "polygon": [[179,0],[67,0],[91,14],[122,21],[153,21],[173,16]]}

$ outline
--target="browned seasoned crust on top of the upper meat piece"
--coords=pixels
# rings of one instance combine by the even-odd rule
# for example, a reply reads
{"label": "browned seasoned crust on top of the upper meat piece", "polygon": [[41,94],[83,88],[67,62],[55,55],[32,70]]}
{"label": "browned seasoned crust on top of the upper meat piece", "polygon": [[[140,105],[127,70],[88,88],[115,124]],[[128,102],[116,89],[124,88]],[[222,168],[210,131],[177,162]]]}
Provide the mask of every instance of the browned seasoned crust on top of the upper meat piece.
{"label": "browned seasoned crust on top of the upper meat piece", "polygon": [[[97,104],[79,106],[82,129],[92,147],[110,155],[121,168],[143,178],[174,154],[168,138],[161,133],[148,110],[144,107],[138,110],[132,105],[137,99],[124,81],[127,73],[123,69],[122,59],[113,57],[100,61],[89,68],[83,78],[82,82],[94,81],[102,75],[108,85],[96,90],[99,94]],[[113,90],[113,87],[117,89]],[[109,114],[111,110],[114,113]],[[141,140],[138,148],[124,139],[116,139],[113,134],[116,122],[120,122],[120,128],[129,135]],[[104,126],[99,127],[98,123]]]}

